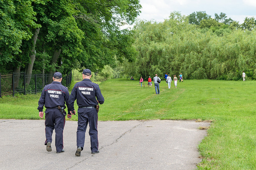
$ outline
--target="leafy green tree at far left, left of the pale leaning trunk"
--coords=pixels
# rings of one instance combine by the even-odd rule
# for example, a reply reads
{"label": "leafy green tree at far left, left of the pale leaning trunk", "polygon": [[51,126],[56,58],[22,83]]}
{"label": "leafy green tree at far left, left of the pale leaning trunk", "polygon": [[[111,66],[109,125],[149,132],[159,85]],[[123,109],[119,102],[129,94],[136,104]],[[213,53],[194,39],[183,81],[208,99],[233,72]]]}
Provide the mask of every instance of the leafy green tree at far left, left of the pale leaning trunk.
{"label": "leafy green tree at far left, left of the pale leaning trunk", "polygon": [[[33,0],[0,1],[0,66],[2,70],[15,70],[27,64],[29,56],[23,56],[21,46],[32,36],[36,23]],[[38,1],[37,3],[40,3]],[[27,46],[29,47],[29,46]]]}

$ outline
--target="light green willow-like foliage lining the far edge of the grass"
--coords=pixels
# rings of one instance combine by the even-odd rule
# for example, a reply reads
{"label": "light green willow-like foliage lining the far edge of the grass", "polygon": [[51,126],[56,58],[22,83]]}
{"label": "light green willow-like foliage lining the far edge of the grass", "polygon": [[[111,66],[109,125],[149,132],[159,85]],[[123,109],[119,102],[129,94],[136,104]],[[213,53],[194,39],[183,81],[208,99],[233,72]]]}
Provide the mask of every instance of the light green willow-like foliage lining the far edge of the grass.
{"label": "light green willow-like foliage lining the far edge of the grass", "polygon": [[248,79],[256,79],[255,19],[228,25],[218,22],[230,21],[223,13],[215,15],[218,21],[203,16],[198,26],[179,12],[160,23],[138,21],[134,46],[139,54],[135,62],[124,63],[124,73],[136,78],[167,72],[183,73],[184,79],[241,80],[245,71]]}

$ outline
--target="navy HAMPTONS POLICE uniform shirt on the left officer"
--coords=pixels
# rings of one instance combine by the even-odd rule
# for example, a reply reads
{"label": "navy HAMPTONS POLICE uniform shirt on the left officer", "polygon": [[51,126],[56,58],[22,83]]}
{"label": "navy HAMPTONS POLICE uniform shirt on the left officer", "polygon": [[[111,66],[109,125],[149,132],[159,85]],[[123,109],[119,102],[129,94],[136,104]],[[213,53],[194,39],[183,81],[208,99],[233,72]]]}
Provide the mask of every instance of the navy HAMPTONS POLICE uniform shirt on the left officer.
{"label": "navy HAMPTONS POLICE uniform shirt on the left officer", "polygon": [[42,91],[41,97],[38,102],[38,110],[43,111],[45,107],[58,107],[65,106],[68,108],[69,92],[67,87],[61,84],[61,82],[52,82],[50,85],[46,85]]}

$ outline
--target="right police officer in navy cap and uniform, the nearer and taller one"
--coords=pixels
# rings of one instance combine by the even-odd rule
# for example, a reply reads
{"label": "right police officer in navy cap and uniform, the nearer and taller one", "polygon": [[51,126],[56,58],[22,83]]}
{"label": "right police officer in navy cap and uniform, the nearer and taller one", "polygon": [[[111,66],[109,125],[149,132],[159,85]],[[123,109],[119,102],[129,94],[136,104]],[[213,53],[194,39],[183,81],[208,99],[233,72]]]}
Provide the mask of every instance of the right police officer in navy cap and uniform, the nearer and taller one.
{"label": "right police officer in navy cap and uniform, the nearer and taller one", "polygon": [[[77,150],[75,152],[76,156],[81,155],[81,151],[84,146],[85,131],[89,123],[89,135],[91,141],[91,153],[99,153],[98,150],[98,113],[96,110],[96,105],[98,103],[104,103],[104,97],[102,96],[99,85],[92,83],[90,81],[91,71],[89,69],[83,70],[83,81],[78,82],[74,85],[69,98],[70,113],[74,111],[74,101],[78,105],[78,127],[76,132],[76,145]],[[97,97],[97,99],[95,98]]]}

